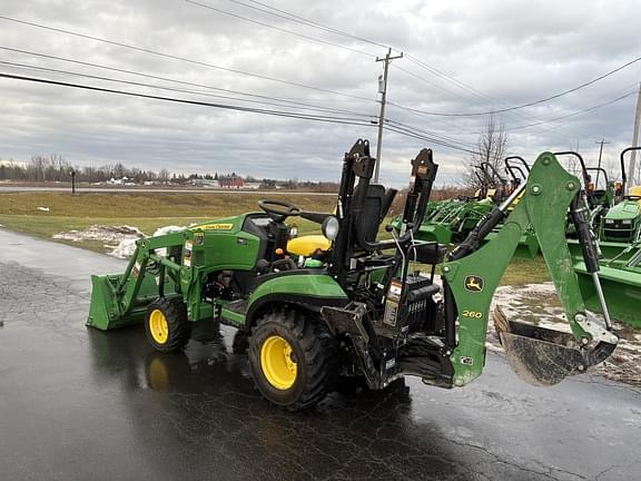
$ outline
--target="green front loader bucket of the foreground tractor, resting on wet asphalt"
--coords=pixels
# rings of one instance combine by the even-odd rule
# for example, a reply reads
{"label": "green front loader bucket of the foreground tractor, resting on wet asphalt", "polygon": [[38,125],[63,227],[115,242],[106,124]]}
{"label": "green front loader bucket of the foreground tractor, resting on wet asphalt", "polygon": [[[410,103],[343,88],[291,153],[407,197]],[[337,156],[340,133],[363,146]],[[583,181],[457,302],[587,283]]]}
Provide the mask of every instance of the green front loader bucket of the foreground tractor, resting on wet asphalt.
{"label": "green front loader bucket of the foreground tractor, resting on wet asphalt", "polygon": [[121,306],[122,294],[118,292],[121,275],[91,276],[91,304],[87,325],[108,331],[142,321],[144,311],[131,310],[124,312]]}

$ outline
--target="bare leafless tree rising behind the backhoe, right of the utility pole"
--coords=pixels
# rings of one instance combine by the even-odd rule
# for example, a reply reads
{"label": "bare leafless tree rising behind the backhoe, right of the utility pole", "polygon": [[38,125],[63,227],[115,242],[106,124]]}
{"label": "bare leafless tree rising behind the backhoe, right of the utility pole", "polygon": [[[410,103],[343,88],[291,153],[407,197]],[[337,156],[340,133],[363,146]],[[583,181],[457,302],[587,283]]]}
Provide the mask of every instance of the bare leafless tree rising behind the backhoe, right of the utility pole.
{"label": "bare leafless tree rising behind the backhoe, right of the utility pole", "polygon": [[483,171],[479,170],[481,164],[487,163],[491,168],[486,168],[487,176],[491,180],[499,183],[494,176],[492,168],[500,173],[502,177],[504,174],[504,159],[507,154],[507,132],[505,126],[494,117],[490,117],[485,124],[483,132],[479,136],[476,148],[470,155],[470,161],[466,166],[465,186],[470,189],[476,190],[483,186]]}

